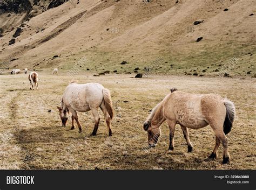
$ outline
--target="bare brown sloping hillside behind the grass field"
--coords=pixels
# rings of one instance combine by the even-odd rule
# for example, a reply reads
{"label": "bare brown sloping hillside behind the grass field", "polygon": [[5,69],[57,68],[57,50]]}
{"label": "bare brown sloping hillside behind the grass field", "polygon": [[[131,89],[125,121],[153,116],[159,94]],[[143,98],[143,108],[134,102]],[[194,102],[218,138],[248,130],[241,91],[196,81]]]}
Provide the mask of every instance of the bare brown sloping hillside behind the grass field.
{"label": "bare brown sloping hillside behind the grass field", "polygon": [[[88,61],[79,68],[90,72],[133,73],[147,67],[198,76],[256,74],[252,0],[74,0],[51,9],[49,2],[33,3],[29,13],[1,13],[0,61],[10,68],[68,72],[85,57]],[[35,15],[28,16],[31,11]],[[194,25],[197,20],[204,21]],[[14,38],[17,27],[22,32]],[[199,37],[203,39],[197,42]],[[162,61],[152,67],[159,57]],[[128,63],[120,65],[122,61]]]}

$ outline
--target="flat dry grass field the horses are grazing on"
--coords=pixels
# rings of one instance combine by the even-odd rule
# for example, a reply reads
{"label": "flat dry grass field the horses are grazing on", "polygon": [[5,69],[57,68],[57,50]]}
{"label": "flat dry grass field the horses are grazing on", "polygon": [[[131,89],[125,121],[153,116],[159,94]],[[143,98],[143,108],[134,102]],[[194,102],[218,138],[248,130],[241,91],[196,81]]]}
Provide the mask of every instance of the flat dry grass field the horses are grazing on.
{"label": "flat dry grass field the horses are grazing on", "polygon": [[[1,169],[255,169],[255,78],[199,78],[195,76],[79,73],[79,83],[98,82],[110,89],[114,119],[108,137],[104,117],[96,136],[90,136],[91,112],[78,113],[82,133],[62,127],[56,106],[70,81],[67,73],[38,72],[39,90],[30,90],[28,75],[0,75]],[[175,148],[169,146],[169,128],[161,126],[157,146],[148,152],[143,122],[149,111],[177,87],[188,93],[217,93],[235,103],[237,117],[228,134],[231,163],[221,165],[223,147],[215,161],[206,161],[215,143],[210,128],[190,130],[194,152],[188,153],[183,133],[176,126]],[[49,112],[49,110],[51,110]],[[71,116],[70,116],[71,117]]]}

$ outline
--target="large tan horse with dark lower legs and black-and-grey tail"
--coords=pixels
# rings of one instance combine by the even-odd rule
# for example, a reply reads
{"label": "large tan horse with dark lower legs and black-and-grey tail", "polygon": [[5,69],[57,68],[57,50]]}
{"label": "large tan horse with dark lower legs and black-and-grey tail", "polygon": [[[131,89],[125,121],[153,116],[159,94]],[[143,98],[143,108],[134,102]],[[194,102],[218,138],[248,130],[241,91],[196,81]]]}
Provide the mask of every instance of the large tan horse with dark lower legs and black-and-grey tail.
{"label": "large tan horse with dark lower legs and black-and-grey tail", "polygon": [[226,134],[231,131],[235,117],[234,103],[217,94],[189,94],[171,89],[152,110],[144,122],[148,143],[154,147],[160,136],[160,125],[166,120],[170,129],[169,150],[174,149],[175,125],[179,124],[186,139],[188,152],[192,152],[192,144],[187,128],[200,129],[210,125],[215,133],[215,147],[209,159],[217,158],[220,142],[224,147],[223,164],[229,163]]}

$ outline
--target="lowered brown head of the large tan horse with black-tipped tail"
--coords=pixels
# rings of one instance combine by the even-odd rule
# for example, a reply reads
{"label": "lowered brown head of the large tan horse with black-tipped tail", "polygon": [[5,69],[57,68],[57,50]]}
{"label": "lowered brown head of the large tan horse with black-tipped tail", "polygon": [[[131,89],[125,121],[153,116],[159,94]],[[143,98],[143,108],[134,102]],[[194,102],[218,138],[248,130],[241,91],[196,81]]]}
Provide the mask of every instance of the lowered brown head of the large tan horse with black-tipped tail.
{"label": "lowered brown head of the large tan horse with black-tipped tail", "polygon": [[159,127],[152,125],[150,121],[146,121],[143,128],[147,131],[147,142],[149,146],[155,147],[161,133]]}

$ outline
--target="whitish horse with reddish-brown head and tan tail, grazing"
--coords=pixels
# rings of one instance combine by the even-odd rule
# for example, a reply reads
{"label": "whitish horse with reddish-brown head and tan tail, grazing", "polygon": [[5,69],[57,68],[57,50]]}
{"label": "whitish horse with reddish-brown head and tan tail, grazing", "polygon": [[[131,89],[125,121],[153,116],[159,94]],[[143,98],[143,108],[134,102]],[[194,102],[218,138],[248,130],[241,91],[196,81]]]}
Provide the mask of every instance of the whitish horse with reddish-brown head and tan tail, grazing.
{"label": "whitish horse with reddish-brown head and tan tail, grazing", "polygon": [[86,112],[91,110],[95,119],[95,126],[91,133],[92,136],[95,136],[98,130],[100,118],[97,110],[99,107],[104,113],[105,122],[109,129],[109,136],[112,136],[110,128],[113,118],[111,95],[110,91],[99,83],[77,84],[76,82],[71,82],[64,91],[60,107],[57,106],[60,119],[62,120],[62,126],[66,126],[68,120],[67,113],[71,112],[72,126],[70,130],[75,129],[75,119],[79,132],[82,132],[82,127],[78,121],[77,111]]}

